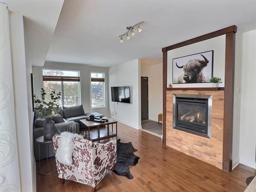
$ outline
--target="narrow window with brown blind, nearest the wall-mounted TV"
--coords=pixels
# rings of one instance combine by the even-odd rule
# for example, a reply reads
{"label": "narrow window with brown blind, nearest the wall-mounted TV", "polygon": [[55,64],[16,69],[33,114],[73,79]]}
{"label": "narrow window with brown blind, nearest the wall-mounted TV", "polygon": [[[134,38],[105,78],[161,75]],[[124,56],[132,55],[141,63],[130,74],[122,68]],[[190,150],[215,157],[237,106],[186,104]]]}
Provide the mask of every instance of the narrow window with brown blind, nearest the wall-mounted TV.
{"label": "narrow window with brown blind, nearest the wall-mounted TV", "polygon": [[105,106],[105,74],[91,73],[91,101],[92,108]]}

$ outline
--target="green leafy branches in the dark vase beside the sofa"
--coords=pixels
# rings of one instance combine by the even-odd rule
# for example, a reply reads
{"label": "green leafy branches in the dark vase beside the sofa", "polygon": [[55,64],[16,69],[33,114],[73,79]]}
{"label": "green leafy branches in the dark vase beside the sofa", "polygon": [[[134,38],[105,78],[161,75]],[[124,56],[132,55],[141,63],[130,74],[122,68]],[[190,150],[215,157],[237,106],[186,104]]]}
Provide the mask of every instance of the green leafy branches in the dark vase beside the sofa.
{"label": "green leafy branches in the dark vase beside the sofa", "polygon": [[36,95],[33,95],[35,110],[37,110],[37,116],[40,118],[53,118],[59,110],[58,99],[60,99],[61,93],[56,93],[55,90],[52,90],[50,93],[50,99],[46,101],[46,91],[41,88],[41,99]]}

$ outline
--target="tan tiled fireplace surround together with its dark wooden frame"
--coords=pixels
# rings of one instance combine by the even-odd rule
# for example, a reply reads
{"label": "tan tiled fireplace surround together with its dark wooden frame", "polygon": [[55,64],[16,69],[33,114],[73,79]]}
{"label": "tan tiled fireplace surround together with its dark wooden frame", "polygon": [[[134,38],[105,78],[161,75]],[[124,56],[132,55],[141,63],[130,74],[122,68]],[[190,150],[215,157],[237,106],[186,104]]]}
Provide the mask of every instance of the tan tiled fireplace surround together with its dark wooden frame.
{"label": "tan tiled fireplace surround together with its dark wooden frame", "polygon": [[[233,149],[234,66],[237,26],[229,26],[211,33],[162,48],[163,52],[163,144],[231,172],[233,162],[239,154]],[[196,43],[225,35],[224,84],[220,88],[194,86],[172,87],[167,81],[167,53]],[[207,44],[207,43],[206,43]],[[205,45],[206,45],[205,44]],[[210,45],[208,45],[210,46]],[[211,46],[210,46],[211,47]],[[190,47],[191,48],[191,47]],[[189,52],[187,47],[186,51]],[[204,49],[204,46],[198,49]],[[213,74],[215,75],[215,71]],[[173,129],[173,94],[212,95],[211,137]],[[237,139],[237,137],[235,138]]]}

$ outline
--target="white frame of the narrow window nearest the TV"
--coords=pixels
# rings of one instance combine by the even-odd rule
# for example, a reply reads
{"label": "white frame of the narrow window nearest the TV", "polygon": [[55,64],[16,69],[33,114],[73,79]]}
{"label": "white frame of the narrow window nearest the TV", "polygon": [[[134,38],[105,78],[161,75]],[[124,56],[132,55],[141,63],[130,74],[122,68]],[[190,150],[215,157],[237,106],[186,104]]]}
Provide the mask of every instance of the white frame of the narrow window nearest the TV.
{"label": "white frame of the narrow window nearest the TV", "polygon": [[[95,77],[91,77],[92,73],[101,73],[103,74],[104,78],[95,78]],[[94,79],[92,81],[92,79]],[[99,80],[99,81],[97,81]],[[100,71],[90,71],[90,105],[91,105],[91,109],[103,109],[106,108],[106,73],[105,72],[100,72]],[[104,82],[104,86],[103,86],[103,98],[104,98],[104,106],[92,106],[92,82]]]}

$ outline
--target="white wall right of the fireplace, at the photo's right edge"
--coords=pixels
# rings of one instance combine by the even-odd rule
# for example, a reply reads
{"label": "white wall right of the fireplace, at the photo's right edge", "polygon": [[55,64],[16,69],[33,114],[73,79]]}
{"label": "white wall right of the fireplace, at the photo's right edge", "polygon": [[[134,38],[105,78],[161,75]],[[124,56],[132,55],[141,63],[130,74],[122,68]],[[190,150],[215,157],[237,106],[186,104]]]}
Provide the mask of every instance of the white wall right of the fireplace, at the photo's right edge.
{"label": "white wall right of the fireplace, at the photo's right edge", "polygon": [[256,125],[256,30],[243,35],[243,64],[240,116],[240,163],[255,167]]}

